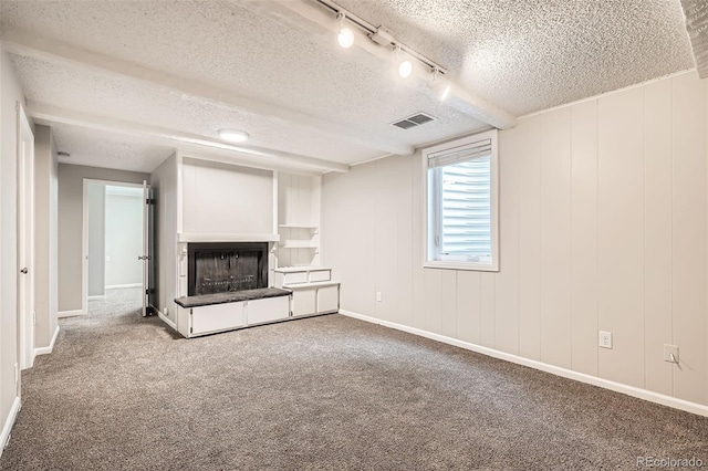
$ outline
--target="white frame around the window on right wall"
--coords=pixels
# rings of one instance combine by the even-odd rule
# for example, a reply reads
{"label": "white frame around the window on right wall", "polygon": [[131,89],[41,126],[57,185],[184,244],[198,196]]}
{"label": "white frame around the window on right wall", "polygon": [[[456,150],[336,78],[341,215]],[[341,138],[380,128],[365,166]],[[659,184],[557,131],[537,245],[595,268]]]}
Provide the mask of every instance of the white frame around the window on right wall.
{"label": "white frame around the window on right wall", "polygon": [[[423,266],[433,269],[447,270],[471,270],[485,272],[499,271],[499,146],[498,130],[491,129],[483,133],[477,133],[471,136],[450,140],[433,147],[423,149],[421,151],[421,170],[423,170]],[[472,146],[481,140],[489,139],[491,142],[490,158],[490,241],[491,241],[491,263],[479,263],[473,261],[461,260],[434,260],[435,253],[434,233],[436,221],[439,220],[439,212],[433,212],[431,207],[434,193],[428,181],[428,158],[434,155],[446,154],[461,147]]]}

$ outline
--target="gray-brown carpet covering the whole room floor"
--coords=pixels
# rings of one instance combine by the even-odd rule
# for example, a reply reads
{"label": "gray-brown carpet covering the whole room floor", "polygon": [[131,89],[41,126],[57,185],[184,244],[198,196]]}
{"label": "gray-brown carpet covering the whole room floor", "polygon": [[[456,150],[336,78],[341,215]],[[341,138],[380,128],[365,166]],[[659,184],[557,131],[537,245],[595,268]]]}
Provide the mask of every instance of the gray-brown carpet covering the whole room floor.
{"label": "gray-brown carpet covering the whole room floor", "polygon": [[188,341],[138,304],[60,322],[1,469],[708,467],[708,418],[342,315]]}

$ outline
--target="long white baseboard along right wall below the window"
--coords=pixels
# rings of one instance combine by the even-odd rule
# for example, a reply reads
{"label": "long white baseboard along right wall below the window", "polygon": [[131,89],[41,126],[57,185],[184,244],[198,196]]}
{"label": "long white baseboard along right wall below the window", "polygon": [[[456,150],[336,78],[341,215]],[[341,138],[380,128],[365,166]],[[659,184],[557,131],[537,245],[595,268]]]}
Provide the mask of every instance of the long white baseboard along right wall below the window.
{"label": "long white baseboard along right wall below the window", "polygon": [[470,344],[469,342],[458,341],[457,338],[447,337],[445,335],[434,334],[427,331],[423,331],[420,328],[409,327],[407,325],[396,324],[388,321],[382,321],[367,315],[353,313],[351,311],[340,310],[340,314],[348,317],[357,318],[360,321],[369,322],[372,324],[381,324],[385,327],[391,327],[397,331],[407,332],[409,334],[419,335],[421,337],[430,338],[433,341],[442,342],[445,344],[449,344],[456,347],[477,352],[482,355],[491,356],[493,358],[499,358],[506,362],[516,363],[518,365],[528,366],[530,368],[540,369],[541,371],[550,373],[552,375],[561,376],[563,378],[574,379],[576,381],[586,383],[589,385],[597,386],[604,389],[610,389],[615,393],[626,394],[627,396],[648,400],[650,402],[660,404],[662,406],[668,406],[675,409],[680,409],[687,412],[708,417],[708,406],[704,406],[701,404],[690,402],[688,400],[678,399],[671,396],[666,396],[663,394],[649,391],[649,390],[637,388],[634,386],[623,385],[622,383],[611,381],[610,379],[603,379],[596,376],[586,375],[584,373],[573,371],[571,369],[561,368],[560,366],[549,365],[546,363],[537,362],[534,359],[523,358],[518,355],[499,352],[489,347],[482,347],[480,345]]}

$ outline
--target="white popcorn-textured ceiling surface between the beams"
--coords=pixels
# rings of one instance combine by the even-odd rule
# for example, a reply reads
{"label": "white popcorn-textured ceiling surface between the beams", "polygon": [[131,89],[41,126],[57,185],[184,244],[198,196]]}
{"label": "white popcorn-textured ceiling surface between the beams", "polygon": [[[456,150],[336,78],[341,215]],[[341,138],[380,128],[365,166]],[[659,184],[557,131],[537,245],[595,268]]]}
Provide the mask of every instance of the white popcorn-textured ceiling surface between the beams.
{"label": "white popcorn-textured ceiling surface between the beams", "polygon": [[[32,103],[100,118],[209,139],[218,128],[236,127],[251,134],[249,146],[340,164],[388,154],[381,142],[415,147],[487,126],[402,84],[392,63],[356,46],[337,48],[326,28],[292,14],[289,1],[3,0],[0,27],[262,104],[243,107],[106,74],[87,67],[91,59],[12,55]],[[300,3],[322,10],[311,0]],[[388,27],[469,92],[517,116],[693,67],[678,0],[339,3]],[[273,107],[290,118],[273,115]],[[438,119],[412,130],[391,126],[417,112]],[[310,118],[344,132],[303,126]],[[149,171],[168,150],[144,136],[104,138],[81,126],[46,124],[76,163]],[[361,136],[371,136],[371,144]]]}

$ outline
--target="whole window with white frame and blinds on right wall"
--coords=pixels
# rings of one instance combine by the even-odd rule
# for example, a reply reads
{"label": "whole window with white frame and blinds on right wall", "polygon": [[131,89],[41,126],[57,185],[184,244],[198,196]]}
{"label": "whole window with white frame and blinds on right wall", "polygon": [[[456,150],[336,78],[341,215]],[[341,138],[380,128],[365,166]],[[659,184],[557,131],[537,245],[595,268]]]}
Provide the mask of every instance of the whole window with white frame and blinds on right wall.
{"label": "whole window with white frame and blinds on right wall", "polygon": [[425,266],[498,271],[497,130],[423,151]]}

